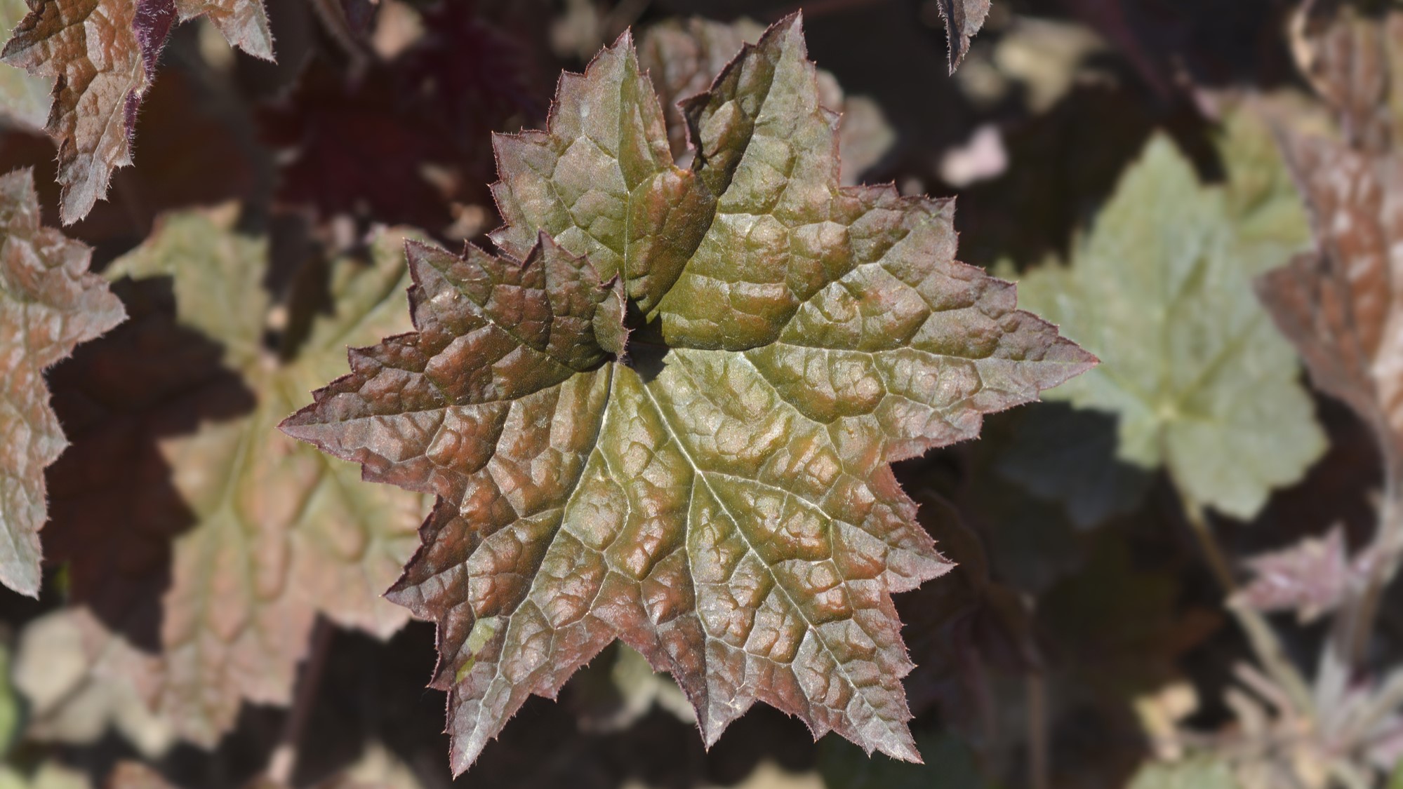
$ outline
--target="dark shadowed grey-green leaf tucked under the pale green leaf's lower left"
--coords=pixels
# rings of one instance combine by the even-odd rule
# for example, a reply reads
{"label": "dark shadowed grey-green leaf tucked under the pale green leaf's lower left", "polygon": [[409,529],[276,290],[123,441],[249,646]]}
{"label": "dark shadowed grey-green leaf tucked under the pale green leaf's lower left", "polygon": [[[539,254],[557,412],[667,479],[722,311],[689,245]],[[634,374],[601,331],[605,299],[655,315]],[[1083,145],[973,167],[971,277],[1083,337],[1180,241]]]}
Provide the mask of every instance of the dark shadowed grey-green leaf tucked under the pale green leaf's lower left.
{"label": "dark shadowed grey-green leaf tucked under the pale green leaf's lower left", "polygon": [[1152,479],[1118,460],[1115,447],[1113,418],[1049,402],[1026,409],[995,468],[1090,528],[1134,510]]}

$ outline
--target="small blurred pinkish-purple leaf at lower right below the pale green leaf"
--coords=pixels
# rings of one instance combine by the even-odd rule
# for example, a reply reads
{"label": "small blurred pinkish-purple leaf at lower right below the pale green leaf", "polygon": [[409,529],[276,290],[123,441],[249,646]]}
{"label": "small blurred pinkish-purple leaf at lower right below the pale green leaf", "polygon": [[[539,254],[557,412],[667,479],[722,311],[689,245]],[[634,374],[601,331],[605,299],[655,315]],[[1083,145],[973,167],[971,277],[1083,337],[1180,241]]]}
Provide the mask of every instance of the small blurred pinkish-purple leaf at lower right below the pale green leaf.
{"label": "small blurred pinkish-purple leaf at lower right below the pale green leaf", "polygon": [[1295,611],[1302,624],[1333,611],[1347,597],[1351,579],[1362,576],[1338,528],[1253,556],[1247,568],[1253,579],[1239,591],[1240,600],[1258,611]]}

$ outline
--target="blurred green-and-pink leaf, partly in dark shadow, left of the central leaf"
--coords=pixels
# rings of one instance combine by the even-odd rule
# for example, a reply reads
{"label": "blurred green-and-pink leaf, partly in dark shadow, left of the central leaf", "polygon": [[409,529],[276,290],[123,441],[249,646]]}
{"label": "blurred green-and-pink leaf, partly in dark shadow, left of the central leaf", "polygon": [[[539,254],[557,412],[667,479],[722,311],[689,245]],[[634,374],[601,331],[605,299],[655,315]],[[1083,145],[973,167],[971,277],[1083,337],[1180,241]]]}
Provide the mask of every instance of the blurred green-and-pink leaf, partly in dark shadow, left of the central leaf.
{"label": "blurred green-and-pink leaf, partly in dark shadow, left of the central leaf", "polygon": [[[216,341],[224,373],[210,374],[205,363],[188,364],[189,356],[153,346],[152,324],[139,315],[130,335],[114,332],[108,353],[65,371],[67,409],[104,416],[77,441],[72,462],[56,469],[63,485],[56,526],[63,552],[73,556],[80,598],[94,593],[130,598],[129,615],[142,615],[140,607],[150,603],[143,596],[154,590],[133,593],[122,589],[123,582],[132,584],[125,577],[93,576],[126,576],[136,584],[161,577],[164,555],[153,542],[160,547],[173,523],[189,523],[166,549],[171,580],[159,608],[159,659],[133,664],[132,673],[154,709],[182,737],[205,746],[233,726],[241,701],[290,701],[295,668],[318,612],[382,636],[407,619],[405,611],[379,596],[412,552],[428,505],[418,495],[361,485],[355,465],[274,429],[306,402],[302,392],[345,369],[347,345],[407,328],[403,234],[379,237],[370,263],[334,263],[334,314],[318,317],[290,359],[279,362],[262,342],[269,308],[260,284],[267,241],[234,233],[233,220],[227,210],[171,214],[108,269],[133,293],[133,303],[142,299],[140,286],[166,283],[175,327]],[[168,341],[171,332],[154,336]],[[153,350],[166,357],[152,360]],[[137,364],[157,369],[146,380],[112,380],[130,377],[142,370]],[[163,364],[175,369],[159,369]],[[164,390],[163,397],[149,398],[143,387]],[[239,413],[229,402],[251,412]],[[156,416],[142,422],[147,411]],[[201,413],[217,416],[182,416]],[[185,429],[171,430],[161,419],[184,420]],[[133,420],[146,426],[137,433],[154,434],[156,457],[129,450]],[[109,471],[114,465],[132,468]],[[128,472],[136,479],[122,476]],[[167,472],[174,495],[160,481]],[[128,496],[118,499],[121,509],[111,505],[114,488]],[[104,531],[142,547],[128,552],[118,545],[93,556],[108,541]],[[97,605],[102,610],[101,600]]]}

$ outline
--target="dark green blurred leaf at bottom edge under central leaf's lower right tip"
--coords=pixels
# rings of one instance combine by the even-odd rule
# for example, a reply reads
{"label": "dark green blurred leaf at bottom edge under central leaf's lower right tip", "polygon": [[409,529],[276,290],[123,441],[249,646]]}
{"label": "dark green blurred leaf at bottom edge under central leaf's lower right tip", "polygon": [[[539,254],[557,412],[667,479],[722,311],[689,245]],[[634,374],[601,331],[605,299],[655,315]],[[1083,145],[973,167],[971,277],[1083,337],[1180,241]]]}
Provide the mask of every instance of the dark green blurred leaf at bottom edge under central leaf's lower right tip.
{"label": "dark green blurred leaf at bottom edge under central leaf's lower right tip", "polygon": [[818,744],[818,771],[828,789],[989,789],[960,737],[943,732],[918,732],[925,764],[908,764],[882,755],[870,757],[852,743],[826,737]]}

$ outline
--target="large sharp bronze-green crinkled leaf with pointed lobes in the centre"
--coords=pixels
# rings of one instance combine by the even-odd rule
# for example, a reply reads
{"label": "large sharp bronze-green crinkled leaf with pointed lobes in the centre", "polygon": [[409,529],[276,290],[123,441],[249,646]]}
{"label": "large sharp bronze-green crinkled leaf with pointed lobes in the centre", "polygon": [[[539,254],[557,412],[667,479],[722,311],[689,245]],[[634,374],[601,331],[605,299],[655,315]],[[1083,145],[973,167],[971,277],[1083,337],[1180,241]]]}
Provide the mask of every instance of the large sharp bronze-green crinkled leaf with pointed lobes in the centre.
{"label": "large sharp bronze-green crinkled leaf with pointed lobes in the centre", "polygon": [[1094,364],[954,261],[950,200],[839,186],[797,15],[686,115],[694,170],[627,34],[563,76],[495,139],[504,254],[410,245],[418,331],[283,422],[439,496],[390,596],[439,624],[456,772],[616,638],[707,743],[765,701],[916,760],[890,594],[948,563],[888,464]]}

